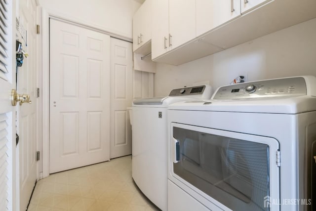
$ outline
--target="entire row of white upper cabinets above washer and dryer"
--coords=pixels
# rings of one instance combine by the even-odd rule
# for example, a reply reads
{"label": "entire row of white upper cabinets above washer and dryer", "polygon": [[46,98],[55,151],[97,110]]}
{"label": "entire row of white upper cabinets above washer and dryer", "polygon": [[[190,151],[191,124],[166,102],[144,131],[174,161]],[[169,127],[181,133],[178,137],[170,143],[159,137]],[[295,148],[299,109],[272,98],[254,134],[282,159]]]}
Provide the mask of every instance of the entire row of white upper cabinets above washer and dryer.
{"label": "entire row of white upper cabinets above washer and dryer", "polygon": [[[153,61],[173,65],[196,60],[316,17],[316,0],[149,1],[144,2],[133,20],[134,50],[143,55],[143,52],[151,51]],[[148,24],[148,30],[152,30],[149,33],[151,38],[145,39],[145,31],[142,31],[146,28],[142,23],[144,16],[152,20]],[[146,42],[150,43],[150,48],[143,47]]]}

